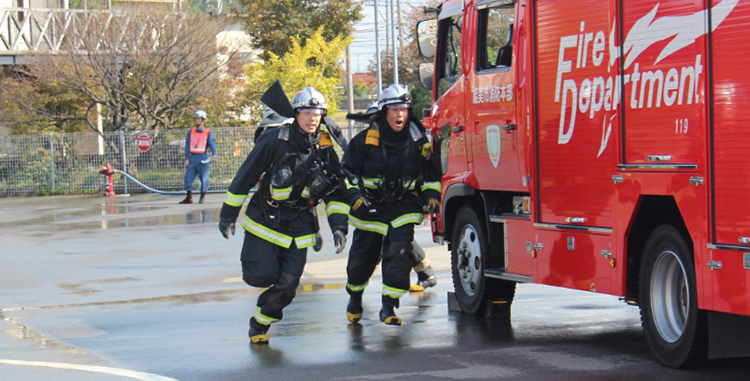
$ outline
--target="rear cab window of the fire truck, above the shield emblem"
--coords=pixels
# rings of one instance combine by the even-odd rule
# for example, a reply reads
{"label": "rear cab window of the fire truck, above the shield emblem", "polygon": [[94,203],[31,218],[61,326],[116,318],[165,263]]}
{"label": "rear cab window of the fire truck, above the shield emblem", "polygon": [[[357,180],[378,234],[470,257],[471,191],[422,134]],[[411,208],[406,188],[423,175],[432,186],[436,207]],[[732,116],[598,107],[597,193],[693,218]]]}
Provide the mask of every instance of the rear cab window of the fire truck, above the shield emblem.
{"label": "rear cab window of the fire truck, above the shield emblem", "polygon": [[479,11],[477,71],[510,68],[513,58],[513,6]]}

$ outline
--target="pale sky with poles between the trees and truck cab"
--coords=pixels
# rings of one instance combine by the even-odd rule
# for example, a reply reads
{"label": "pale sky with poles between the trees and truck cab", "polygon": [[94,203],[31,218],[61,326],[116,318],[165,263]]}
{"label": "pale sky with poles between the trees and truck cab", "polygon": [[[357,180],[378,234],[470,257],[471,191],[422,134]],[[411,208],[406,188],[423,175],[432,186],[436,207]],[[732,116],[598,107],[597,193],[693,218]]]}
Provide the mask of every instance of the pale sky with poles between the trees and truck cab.
{"label": "pale sky with poles between the trees and truck cab", "polygon": [[[401,3],[401,13],[408,13],[415,6],[422,6],[425,1],[422,0],[395,0]],[[378,24],[379,24],[379,40],[380,50],[385,50],[386,46],[386,32],[385,32],[385,17],[386,17],[386,5],[387,0],[378,0],[378,6],[380,12],[378,13]],[[354,41],[352,41],[352,72],[362,73],[367,71],[367,65],[370,63],[370,59],[375,59],[375,7],[373,0],[363,1],[362,13],[364,17],[358,23],[355,24],[354,28]],[[393,4],[393,11],[396,12],[396,3]],[[403,18],[403,16],[402,16]],[[404,38],[409,34],[409,31],[404,29],[402,31]],[[396,35],[398,38],[398,35]],[[398,44],[398,40],[396,41]]]}

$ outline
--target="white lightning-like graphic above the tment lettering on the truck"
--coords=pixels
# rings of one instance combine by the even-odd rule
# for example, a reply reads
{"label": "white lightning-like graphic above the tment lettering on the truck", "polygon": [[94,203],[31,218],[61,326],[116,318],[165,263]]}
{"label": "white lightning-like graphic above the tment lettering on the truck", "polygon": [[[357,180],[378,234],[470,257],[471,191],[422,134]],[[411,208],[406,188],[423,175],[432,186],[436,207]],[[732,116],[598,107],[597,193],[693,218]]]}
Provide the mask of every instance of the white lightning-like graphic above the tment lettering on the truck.
{"label": "white lightning-like graphic above the tment lettering on the truck", "polygon": [[[713,7],[711,12],[711,30],[716,28],[732,12],[739,0],[724,0]],[[633,24],[625,42],[623,51],[626,54],[625,68],[627,69],[641,53],[651,45],[674,37],[664,50],[659,53],[654,64],[667,58],[670,54],[689,46],[696,39],[706,34],[706,25],[708,24],[708,10],[702,10],[687,16],[665,16],[654,20],[659,4],[654,6],[648,14]],[[613,33],[614,34],[614,33]],[[610,37],[612,37],[612,35]],[[611,40],[611,38],[610,38]],[[612,41],[610,41],[612,45]],[[612,50],[610,50],[612,51]],[[610,60],[611,62],[612,60]]]}

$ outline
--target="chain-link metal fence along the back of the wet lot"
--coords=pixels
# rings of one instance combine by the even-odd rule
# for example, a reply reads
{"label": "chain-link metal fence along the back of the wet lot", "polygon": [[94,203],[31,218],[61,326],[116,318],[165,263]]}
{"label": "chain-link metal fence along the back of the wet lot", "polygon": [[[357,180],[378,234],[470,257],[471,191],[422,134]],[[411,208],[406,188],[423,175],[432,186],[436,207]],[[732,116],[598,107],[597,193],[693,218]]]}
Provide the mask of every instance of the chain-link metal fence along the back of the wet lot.
{"label": "chain-link metal fence along the back of the wet lot", "polygon": [[[363,126],[358,125],[355,133]],[[346,129],[345,129],[346,130]],[[0,137],[0,196],[101,192],[105,176],[99,165],[133,176],[160,191],[182,191],[185,175],[185,136],[188,129],[149,131],[150,148],[138,137],[144,131],[97,134],[65,133]],[[211,163],[210,191],[226,190],[253,148],[255,127],[212,128],[218,157]],[[120,174],[115,193],[148,190]],[[193,184],[198,189],[198,180]]]}

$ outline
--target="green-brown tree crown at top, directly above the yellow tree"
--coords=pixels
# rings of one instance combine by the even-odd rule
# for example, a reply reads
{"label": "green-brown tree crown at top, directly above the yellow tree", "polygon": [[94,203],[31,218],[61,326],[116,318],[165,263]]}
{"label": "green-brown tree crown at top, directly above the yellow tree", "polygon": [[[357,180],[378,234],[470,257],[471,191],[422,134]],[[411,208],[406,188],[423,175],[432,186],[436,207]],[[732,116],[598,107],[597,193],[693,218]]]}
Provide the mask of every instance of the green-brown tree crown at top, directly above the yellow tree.
{"label": "green-brown tree crown at top, directly above the yellow tree", "polygon": [[262,58],[271,54],[283,56],[292,48],[292,39],[300,45],[315,31],[325,27],[325,41],[352,35],[354,22],[362,19],[361,6],[354,0],[239,0],[237,10],[246,21],[247,33],[254,47],[263,51]]}

